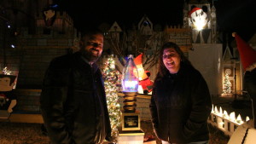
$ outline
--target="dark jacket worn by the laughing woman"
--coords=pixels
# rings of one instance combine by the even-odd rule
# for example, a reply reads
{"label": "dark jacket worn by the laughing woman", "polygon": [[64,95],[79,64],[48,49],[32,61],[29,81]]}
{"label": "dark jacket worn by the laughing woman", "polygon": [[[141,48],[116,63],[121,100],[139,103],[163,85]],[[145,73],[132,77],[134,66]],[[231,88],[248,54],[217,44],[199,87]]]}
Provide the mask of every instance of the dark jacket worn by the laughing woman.
{"label": "dark jacket worn by the laughing woman", "polygon": [[192,66],[156,78],[150,112],[156,135],[171,143],[209,140],[212,100],[207,83]]}

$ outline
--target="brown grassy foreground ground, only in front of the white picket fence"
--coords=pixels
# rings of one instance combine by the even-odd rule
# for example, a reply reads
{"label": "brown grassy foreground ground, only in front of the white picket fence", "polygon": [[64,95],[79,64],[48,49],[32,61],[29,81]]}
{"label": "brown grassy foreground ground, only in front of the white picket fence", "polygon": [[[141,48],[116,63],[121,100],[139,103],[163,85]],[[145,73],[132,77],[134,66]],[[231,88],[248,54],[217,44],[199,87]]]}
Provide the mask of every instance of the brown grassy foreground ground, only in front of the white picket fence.
{"label": "brown grassy foreground ground, only in front of the white picket fence", "polygon": [[[145,138],[153,138],[157,144],[161,142],[155,138],[150,121],[142,121],[141,128],[145,133]],[[24,124],[0,122],[0,143],[1,144],[49,144],[49,138],[42,134],[41,124]],[[229,137],[221,131],[209,125],[210,144],[226,144]]]}

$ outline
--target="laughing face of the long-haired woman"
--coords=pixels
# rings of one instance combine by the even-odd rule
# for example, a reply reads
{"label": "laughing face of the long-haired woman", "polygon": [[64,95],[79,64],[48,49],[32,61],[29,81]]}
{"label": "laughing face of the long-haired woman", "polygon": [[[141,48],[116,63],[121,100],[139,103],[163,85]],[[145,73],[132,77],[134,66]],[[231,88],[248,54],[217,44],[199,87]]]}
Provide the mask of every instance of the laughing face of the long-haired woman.
{"label": "laughing face of the long-haired woman", "polygon": [[170,73],[177,73],[180,68],[180,55],[174,48],[167,48],[163,53],[163,63]]}

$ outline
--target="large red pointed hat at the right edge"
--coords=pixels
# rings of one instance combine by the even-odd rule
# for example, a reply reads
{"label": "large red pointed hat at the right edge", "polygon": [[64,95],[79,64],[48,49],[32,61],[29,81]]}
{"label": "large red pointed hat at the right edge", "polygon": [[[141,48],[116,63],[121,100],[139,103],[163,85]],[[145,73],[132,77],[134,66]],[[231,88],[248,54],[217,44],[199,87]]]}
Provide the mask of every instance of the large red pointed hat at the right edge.
{"label": "large red pointed hat at the right edge", "polygon": [[236,32],[233,32],[232,36],[236,38],[236,46],[239,51],[241,64],[243,69],[247,71],[256,65],[256,51],[241,39]]}

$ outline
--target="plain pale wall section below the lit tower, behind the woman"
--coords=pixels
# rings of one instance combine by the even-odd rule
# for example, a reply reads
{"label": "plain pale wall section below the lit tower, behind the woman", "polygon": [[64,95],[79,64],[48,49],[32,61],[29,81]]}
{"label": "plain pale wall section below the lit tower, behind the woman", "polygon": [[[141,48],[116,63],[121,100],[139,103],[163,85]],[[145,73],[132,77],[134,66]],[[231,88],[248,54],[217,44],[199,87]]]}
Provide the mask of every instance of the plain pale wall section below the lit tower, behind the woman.
{"label": "plain pale wall section below the lit tower, behind the woman", "polygon": [[207,81],[211,95],[222,93],[222,44],[193,43],[189,60]]}

